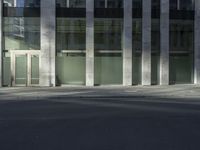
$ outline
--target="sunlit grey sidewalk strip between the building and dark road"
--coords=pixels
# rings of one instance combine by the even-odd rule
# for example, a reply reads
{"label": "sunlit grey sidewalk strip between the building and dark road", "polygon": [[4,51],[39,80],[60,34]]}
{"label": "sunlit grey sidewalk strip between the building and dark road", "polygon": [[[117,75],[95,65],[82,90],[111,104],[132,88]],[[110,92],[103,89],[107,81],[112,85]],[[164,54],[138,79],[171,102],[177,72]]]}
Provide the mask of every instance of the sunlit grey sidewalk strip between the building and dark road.
{"label": "sunlit grey sidewalk strip between the building and dark road", "polygon": [[200,86],[98,86],[98,87],[14,87],[0,88],[0,100],[54,98],[156,98],[200,100]]}

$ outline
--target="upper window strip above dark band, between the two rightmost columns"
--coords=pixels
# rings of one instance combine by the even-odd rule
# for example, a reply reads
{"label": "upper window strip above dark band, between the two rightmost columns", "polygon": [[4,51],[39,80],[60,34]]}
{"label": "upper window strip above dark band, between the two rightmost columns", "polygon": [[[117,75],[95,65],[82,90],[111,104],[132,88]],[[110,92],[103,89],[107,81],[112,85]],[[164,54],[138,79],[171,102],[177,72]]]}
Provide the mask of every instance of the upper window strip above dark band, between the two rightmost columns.
{"label": "upper window strip above dark band, between the two rightmost columns", "polygon": [[173,10],[194,10],[195,0],[170,0],[170,9]]}

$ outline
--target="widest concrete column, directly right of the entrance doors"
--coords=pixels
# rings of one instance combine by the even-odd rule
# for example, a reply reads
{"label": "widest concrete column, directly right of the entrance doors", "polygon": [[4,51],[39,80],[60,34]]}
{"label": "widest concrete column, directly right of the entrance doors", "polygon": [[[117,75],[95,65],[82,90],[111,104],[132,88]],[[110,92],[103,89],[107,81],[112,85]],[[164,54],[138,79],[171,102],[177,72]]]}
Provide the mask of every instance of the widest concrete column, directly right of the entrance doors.
{"label": "widest concrete column, directly right of the entrance doors", "polygon": [[55,86],[56,3],[41,1],[40,85]]}

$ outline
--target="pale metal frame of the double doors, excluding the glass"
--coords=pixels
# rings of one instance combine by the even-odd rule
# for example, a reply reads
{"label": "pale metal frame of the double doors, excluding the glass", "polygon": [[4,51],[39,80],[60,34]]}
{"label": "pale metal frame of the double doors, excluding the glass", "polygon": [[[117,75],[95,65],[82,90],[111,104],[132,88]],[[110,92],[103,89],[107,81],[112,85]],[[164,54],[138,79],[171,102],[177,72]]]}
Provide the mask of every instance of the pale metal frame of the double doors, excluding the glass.
{"label": "pale metal frame of the double doors, excluding the glass", "polygon": [[[38,50],[14,50],[11,54],[11,86],[39,86],[39,84],[31,84],[31,56],[38,55],[40,69],[40,51]],[[26,84],[16,84],[16,56],[25,55],[27,58],[27,80]],[[39,70],[40,71],[40,70]],[[40,77],[39,77],[40,79]]]}

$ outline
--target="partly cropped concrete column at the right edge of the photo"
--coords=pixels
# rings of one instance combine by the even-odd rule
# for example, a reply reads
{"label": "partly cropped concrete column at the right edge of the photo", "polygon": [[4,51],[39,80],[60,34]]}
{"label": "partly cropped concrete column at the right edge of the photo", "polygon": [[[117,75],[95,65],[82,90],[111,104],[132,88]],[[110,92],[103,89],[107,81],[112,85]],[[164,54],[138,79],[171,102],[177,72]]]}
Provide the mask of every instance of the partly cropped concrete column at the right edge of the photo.
{"label": "partly cropped concrete column at the right edge of the photo", "polygon": [[195,1],[194,83],[200,84],[200,1]]}

